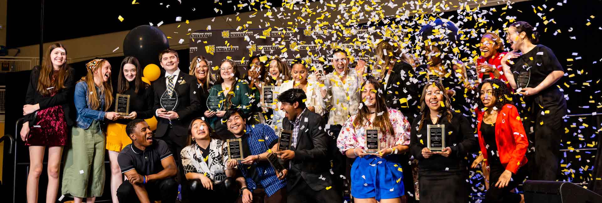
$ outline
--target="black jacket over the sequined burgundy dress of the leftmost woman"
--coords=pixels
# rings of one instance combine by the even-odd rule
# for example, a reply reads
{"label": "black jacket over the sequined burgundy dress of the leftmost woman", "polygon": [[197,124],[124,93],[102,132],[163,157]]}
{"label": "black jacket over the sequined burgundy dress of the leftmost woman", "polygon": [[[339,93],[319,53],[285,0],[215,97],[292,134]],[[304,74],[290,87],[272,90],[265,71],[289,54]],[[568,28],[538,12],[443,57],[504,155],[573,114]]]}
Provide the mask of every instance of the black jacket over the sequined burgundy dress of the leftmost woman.
{"label": "black jacket over the sequined burgundy dress of the leftmost woman", "polygon": [[[71,111],[73,105],[73,87],[75,86],[75,75],[73,68],[69,67],[69,75],[65,78],[64,86],[66,88],[58,90],[54,96],[42,96],[37,89],[37,82],[40,78],[40,66],[34,66],[31,69],[29,75],[29,85],[27,87],[27,94],[25,95],[25,104],[40,104],[40,110],[54,107],[55,105],[61,105],[65,114],[65,122],[67,126],[73,126],[73,118],[75,117],[75,111]],[[36,125],[36,113],[31,113],[25,116],[25,122],[29,122],[29,127]]]}

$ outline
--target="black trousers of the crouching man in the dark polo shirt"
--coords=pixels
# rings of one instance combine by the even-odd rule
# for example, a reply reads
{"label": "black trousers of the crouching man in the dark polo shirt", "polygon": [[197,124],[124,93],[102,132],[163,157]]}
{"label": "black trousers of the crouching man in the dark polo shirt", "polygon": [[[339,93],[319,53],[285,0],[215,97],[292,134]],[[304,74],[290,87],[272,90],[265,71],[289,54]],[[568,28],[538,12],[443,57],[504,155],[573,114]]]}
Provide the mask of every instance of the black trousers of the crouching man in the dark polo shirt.
{"label": "black trousers of the crouching man in the dark polo shirt", "polygon": [[[160,200],[162,203],[171,203],[176,201],[178,196],[178,182],[173,178],[151,181],[150,183],[142,184],[151,201]],[[129,181],[123,183],[117,189],[117,199],[119,202],[140,202],[134,186]]]}

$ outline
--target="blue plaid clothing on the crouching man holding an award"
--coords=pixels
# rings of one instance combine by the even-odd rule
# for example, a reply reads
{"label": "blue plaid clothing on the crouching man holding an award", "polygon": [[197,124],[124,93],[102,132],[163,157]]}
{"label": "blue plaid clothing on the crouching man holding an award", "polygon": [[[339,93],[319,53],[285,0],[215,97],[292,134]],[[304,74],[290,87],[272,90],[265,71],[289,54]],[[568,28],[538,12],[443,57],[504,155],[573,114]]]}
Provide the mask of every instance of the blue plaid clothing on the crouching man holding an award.
{"label": "blue plaid clothing on the crouching man holding an award", "polygon": [[[247,132],[245,134],[248,136],[247,143],[249,144],[249,150],[251,151],[251,155],[257,155],[266,152],[270,149],[269,144],[274,140],[278,140],[278,136],[274,133],[274,130],[270,128],[270,126],[265,124],[257,124],[257,125],[247,125]],[[240,164],[240,161],[239,161]],[[256,170],[258,174],[261,175],[261,185],[265,188],[265,193],[268,196],[272,196],[278,190],[287,186],[286,180],[279,180],[276,177],[276,172],[270,162],[255,162]],[[257,189],[257,185],[253,180],[247,177],[246,166],[240,167],[240,171],[247,181],[247,187],[249,190]]]}

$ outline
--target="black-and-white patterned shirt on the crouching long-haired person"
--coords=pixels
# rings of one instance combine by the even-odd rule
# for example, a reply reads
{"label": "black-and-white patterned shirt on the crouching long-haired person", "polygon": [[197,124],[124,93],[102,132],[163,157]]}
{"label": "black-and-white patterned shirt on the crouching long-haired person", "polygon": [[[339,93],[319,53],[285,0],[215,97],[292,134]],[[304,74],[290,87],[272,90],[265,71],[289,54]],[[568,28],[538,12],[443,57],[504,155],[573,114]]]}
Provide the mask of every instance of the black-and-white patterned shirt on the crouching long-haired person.
{"label": "black-and-white patterned shirt on the crouching long-haired person", "polygon": [[209,156],[200,151],[200,146],[196,142],[184,147],[180,155],[182,157],[184,174],[188,172],[204,174],[216,184],[226,179],[228,145],[225,141],[211,138]]}

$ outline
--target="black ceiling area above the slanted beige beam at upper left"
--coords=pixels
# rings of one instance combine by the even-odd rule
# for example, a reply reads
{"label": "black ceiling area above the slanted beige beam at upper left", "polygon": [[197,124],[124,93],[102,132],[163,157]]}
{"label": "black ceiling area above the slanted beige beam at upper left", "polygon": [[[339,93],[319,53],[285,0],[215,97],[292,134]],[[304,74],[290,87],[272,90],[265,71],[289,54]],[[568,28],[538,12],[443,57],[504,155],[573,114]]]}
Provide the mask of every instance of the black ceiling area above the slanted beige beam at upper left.
{"label": "black ceiling area above the slanted beige beam at upper left", "polygon": [[[111,32],[128,31],[139,25],[155,26],[175,23],[176,17],[197,20],[234,14],[234,7],[249,1],[213,0],[54,0],[45,1],[44,41],[60,41]],[[7,10],[7,47],[22,47],[40,43],[41,0],[8,1]],[[282,1],[272,2],[279,7]],[[220,5],[221,4],[221,5]],[[169,5],[169,7],[168,7]],[[259,4],[255,4],[257,7]],[[219,8],[223,13],[216,13]],[[248,7],[247,10],[249,11]],[[241,10],[239,10],[241,11]],[[123,22],[117,19],[122,16]]]}

